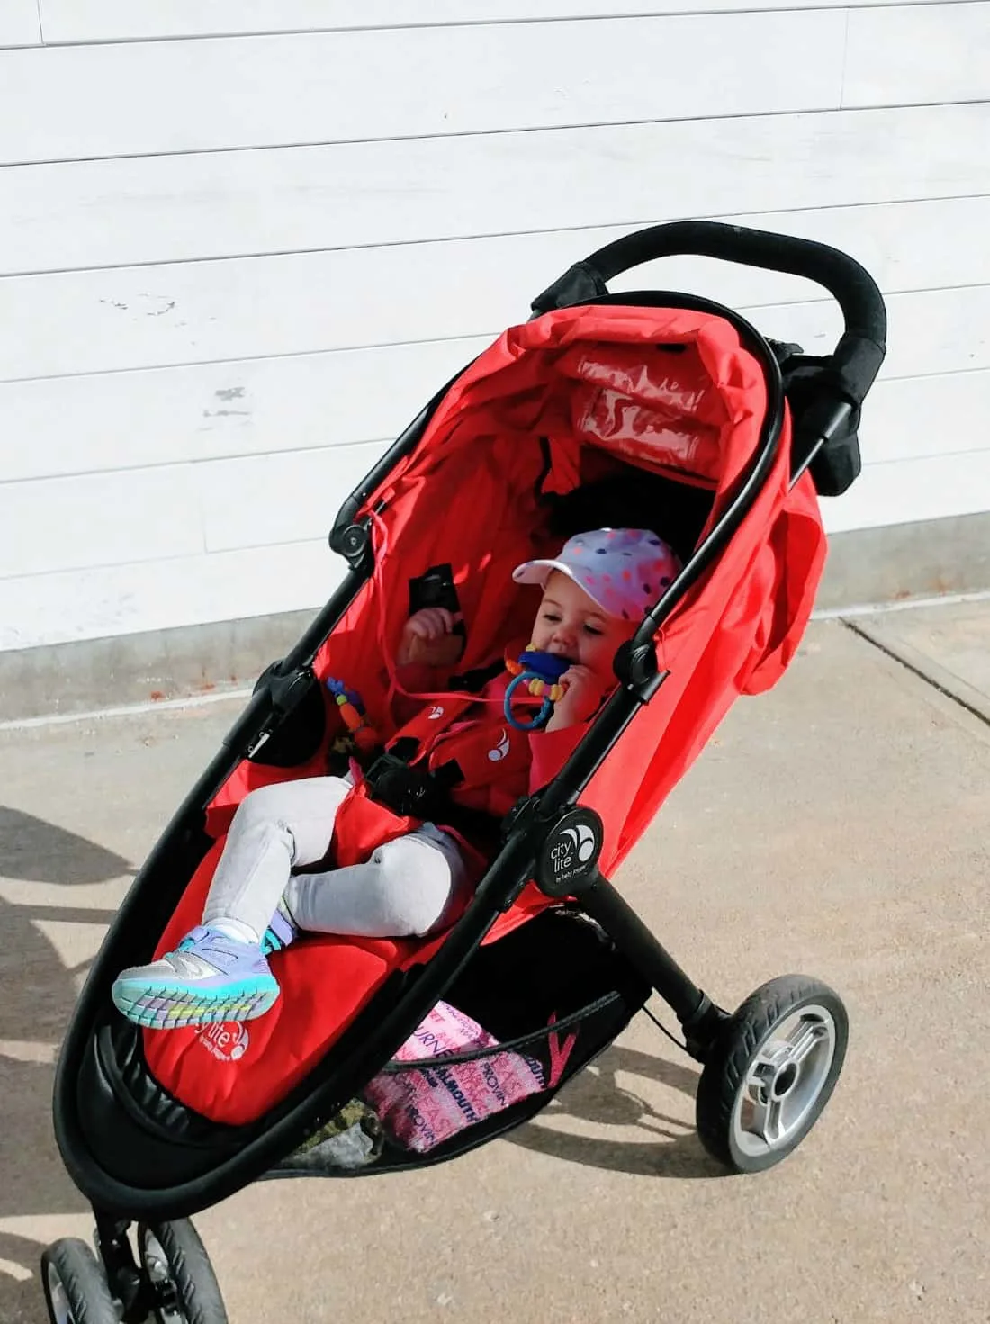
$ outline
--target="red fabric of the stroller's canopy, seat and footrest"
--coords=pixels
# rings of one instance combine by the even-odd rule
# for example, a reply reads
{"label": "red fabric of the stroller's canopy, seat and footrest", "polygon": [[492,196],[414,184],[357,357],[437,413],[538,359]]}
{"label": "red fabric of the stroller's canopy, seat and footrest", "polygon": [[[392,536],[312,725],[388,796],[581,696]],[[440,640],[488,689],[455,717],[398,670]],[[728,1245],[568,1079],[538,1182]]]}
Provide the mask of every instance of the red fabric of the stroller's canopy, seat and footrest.
{"label": "red fabric of the stroller's canopy, seat and footrest", "polygon": [[[408,616],[410,577],[451,564],[467,622],[459,666],[480,666],[532,621],[533,591],[512,583],[512,568],[557,549],[540,493],[565,493],[630,465],[712,489],[715,520],[757,449],[765,412],[760,363],[732,323],[712,314],[593,305],[512,327],[451,387],[413,454],[371,495],[365,508],[381,506],[373,522],[375,579],[320,649],[318,675],[359,688],[373,724],[390,735],[389,659]],[[784,673],[825,553],[810,477],[790,487],[785,420],[749,514],[658,634],[668,678],[581,796],[605,825],[606,875],[736,696],[766,690]],[[560,767],[580,735],[580,728],[556,733],[553,757],[537,760],[531,789],[545,784],[555,771],[549,764]],[[199,922],[222,835],[246,792],[319,775],[324,757],[326,741],[306,767],[238,767],[208,813],[218,845],[187,888],[159,952]],[[338,826],[347,833],[345,814]],[[355,817],[349,839],[338,841],[340,853],[355,858],[371,850],[376,842],[367,831]],[[486,941],[547,904],[531,883]],[[242,1027],[144,1031],[148,1063],[188,1107],[217,1121],[250,1121],[312,1068],[389,970],[426,959],[442,941],[307,937],[274,957],[282,997],[265,1017]]]}

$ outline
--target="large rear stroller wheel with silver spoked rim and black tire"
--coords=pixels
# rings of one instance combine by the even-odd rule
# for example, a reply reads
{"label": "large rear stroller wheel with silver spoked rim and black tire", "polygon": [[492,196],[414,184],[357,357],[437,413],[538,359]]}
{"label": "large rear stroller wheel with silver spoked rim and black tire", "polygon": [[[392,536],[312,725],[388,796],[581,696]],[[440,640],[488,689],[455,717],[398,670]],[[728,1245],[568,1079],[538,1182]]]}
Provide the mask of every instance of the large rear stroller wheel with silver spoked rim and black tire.
{"label": "large rear stroller wheel with silver spoked rim and black tire", "polygon": [[720,1029],[698,1086],[698,1135],[736,1172],[786,1158],[822,1113],[842,1071],[848,1017],[826,984],[770,980]]}

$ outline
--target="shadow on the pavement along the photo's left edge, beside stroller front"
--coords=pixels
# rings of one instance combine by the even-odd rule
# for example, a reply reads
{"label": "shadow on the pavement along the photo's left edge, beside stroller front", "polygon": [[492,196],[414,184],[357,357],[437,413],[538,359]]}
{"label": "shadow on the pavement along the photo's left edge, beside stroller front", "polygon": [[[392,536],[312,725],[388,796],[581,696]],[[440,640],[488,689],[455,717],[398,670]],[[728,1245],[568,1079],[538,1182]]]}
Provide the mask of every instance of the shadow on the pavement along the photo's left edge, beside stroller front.
{"label": "shadow on the pavement along the photo's left edge, beside stroller front", "polygon": [[[130,876],[130,861],[32,814],[0,805],[0,876],[15,884],[0,900],[0,1320],[45,1317],[38,1239],[4,1229],[5,1219],[89,1213],[69,1178],[52,1132],[54,1061],[89,960],[66,967],[38,922],[103,925],[111,912],[77,906],[71,888]],[[65,904],[32,903],[30,884],[65,887]],[[50,895],[49,898],[50,899]]]}

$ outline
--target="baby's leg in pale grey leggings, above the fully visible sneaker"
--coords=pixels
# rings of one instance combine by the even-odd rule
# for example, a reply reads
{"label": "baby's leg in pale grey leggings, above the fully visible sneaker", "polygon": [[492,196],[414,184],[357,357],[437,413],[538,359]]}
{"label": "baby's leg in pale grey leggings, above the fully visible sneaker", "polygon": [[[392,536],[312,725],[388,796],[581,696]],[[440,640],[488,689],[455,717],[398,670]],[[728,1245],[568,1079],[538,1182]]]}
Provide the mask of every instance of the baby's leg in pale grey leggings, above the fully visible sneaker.
{"label": "baby's leg in pale grey leggings, above the fully visible sneaker", "polygon": [[349,790],[351,784],[341,777],[306,777],[259,786],[245,796],[213,875],[202,923],[220,920],[233,936],[257,943],[282,899],[290,870],[315,865],[330,850],[334,820]]}

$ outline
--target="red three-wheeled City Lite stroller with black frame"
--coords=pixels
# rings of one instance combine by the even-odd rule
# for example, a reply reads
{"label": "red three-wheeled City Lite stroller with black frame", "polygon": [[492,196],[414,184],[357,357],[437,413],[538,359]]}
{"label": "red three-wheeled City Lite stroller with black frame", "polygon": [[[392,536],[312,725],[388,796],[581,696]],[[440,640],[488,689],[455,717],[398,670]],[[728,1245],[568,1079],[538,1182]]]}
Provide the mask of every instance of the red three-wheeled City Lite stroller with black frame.
{"label": "red three-wheeled City Lite stroller with black frame", "polygon": [[[608,293],[618,273],[672,253],[817,281],[838,299],[844,334],[831,355],[810,357],[704,299]],[[883,301],[834,249],[679,222],[577,263],[533,310],[430,401],[344,502],[330,539],[348,563],[344,583],[261,678],[115,918],[54,1096],[58,1145],[94,1206],[99,1259],[75,1239],[45,1251],[53,1320],[224,1320],[189,1214],[263,1176],[381,1173],[483,1144],[545,1107],[652,990],[703,1063],[698,1131],[728,1168],[784,1158],[835,1086],[847,1039],[836,993],[786,976],[729,1014],[608,876],[733,699],[772,686],[795,651],[825,561],[818,496],[859,473]],[[250,1026],[163,1034],[119,1017],[114,976],[196,923],[246,792],[327,771],[341,736],[327,678],[357,686],[389,733],[381,663],[410,583],[455,594],[467,675],[524,628],[511,568],[601,524],[655,528],[684,568],[617,654],[615,688],[561,771],[491,824],[487,867],[457,923],[425,940],[308,937],[273,957],[282,996]],[[408,760],[382,757],[386,802],[412,824],[437,788]],[[338,862],[364,858],[373,831],[356,816]],[[361,1168],[314,1162],[369,1083],[414,1070],[396,1054],[441,1000],[498,1041],[433,1059],[441,1083],[458,1064],[519,1051],[543,1087],[425,1152],[380,1133]]]}

